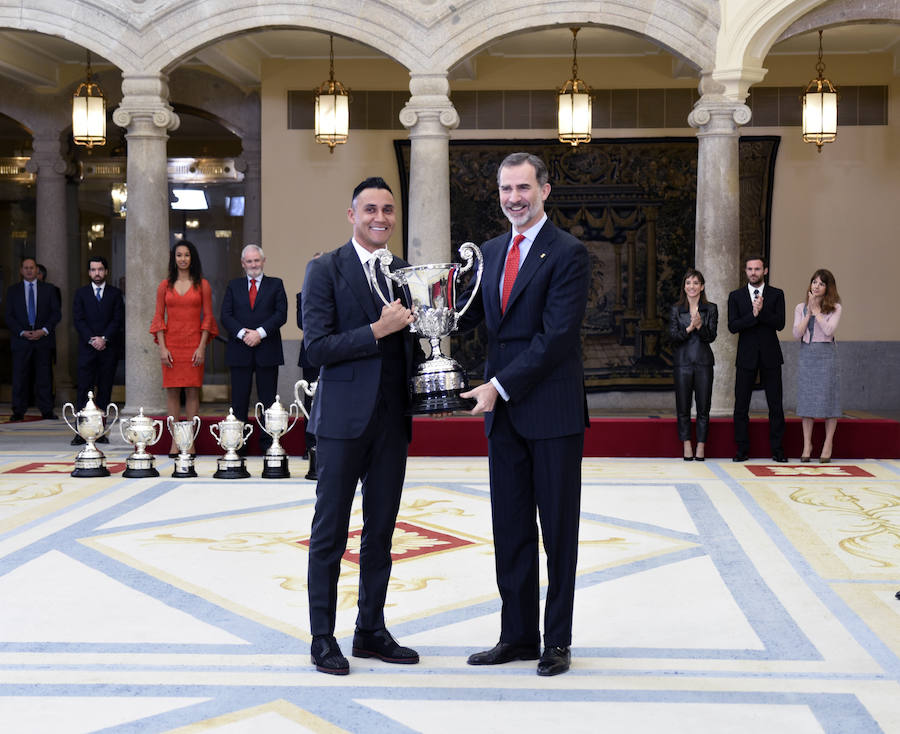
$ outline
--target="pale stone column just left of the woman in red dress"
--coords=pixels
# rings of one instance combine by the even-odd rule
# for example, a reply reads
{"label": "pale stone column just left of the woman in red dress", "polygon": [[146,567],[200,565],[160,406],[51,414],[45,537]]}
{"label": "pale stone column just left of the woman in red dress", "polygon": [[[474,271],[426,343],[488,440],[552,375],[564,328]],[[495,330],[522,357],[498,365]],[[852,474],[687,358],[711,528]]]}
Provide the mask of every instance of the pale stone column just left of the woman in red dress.
{"label": "pale stone column just left of the woman in red dress", "polygon": [[149,333],[156,288],[169,262],[168,131],[178,127],[165,74],[123,74],[113,121],[127,129],[128,215],[125,221],[125,408],[162,414],[159,353]]}

